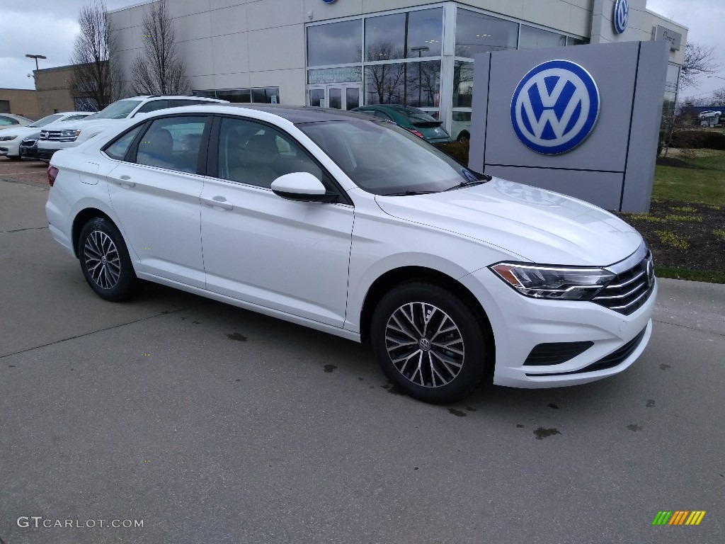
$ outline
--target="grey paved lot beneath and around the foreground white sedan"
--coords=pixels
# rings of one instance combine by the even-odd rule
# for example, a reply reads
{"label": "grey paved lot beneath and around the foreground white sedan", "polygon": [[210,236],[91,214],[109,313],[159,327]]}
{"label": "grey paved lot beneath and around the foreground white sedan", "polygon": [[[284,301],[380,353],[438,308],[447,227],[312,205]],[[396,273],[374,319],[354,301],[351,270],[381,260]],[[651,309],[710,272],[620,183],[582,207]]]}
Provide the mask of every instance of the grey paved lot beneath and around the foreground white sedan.
{"label": "grey paved lot beneath and around the foreground white sedan", "polygon": [[166,287],[99,299],[44,171],[0,158],[0,543],[725,541],[725,285],[660,280],[623,374],[426,405],[365,345]]}

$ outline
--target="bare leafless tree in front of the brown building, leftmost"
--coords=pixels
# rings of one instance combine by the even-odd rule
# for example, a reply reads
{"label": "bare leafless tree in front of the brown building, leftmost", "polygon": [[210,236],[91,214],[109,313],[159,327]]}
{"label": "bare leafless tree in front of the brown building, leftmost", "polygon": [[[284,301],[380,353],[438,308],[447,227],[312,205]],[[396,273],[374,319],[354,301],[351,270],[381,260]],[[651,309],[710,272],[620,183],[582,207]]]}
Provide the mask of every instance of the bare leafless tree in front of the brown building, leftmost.
{"label": "bare leafless tree in front of the brown building, leftmost", "polygon": [[120,94],[120,78],[110,62],[113,47],[106,4],[93,0],[80,9],[80,32],[70,54],[73,65],[71,94],[80,110],[98,111]]}

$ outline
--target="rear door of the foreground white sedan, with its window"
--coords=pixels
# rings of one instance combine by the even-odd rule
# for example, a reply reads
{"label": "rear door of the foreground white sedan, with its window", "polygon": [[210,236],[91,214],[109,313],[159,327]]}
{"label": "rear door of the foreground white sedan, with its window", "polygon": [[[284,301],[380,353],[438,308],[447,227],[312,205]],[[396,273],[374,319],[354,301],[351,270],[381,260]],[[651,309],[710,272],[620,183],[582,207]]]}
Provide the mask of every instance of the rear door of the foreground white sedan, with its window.
{"label": "rear door of the foreground white sedan, with its window", "polygon": [[120,228],[144,271],[194,287],[204,287],[199,218],[204,176],[197,171],[205,164],[200,147],[210,119],[179,115],[146,123],[108,176]]}

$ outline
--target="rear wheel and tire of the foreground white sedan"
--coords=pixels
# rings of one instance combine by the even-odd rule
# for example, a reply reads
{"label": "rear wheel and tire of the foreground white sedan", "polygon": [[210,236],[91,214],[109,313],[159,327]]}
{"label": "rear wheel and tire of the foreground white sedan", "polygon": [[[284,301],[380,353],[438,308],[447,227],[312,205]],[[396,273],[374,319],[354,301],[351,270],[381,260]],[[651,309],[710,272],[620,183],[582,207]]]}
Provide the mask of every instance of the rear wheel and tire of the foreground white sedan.
{"label": "rear wheel and tire of the foreground white sedan", "polygon": [[83,226],[78,259],[88,285],[104,300],[128,300],[140,287],[123,236],[105,218],[91,219]]}

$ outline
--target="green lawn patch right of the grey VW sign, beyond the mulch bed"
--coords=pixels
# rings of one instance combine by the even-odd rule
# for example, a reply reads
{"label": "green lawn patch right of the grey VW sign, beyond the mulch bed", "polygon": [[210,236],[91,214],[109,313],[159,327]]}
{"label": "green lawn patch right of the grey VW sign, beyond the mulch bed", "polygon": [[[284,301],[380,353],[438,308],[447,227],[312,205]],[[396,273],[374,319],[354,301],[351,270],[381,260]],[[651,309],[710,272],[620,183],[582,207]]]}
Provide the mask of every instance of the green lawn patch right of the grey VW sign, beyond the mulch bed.
{"label": "green lawn patch right of the grey VW sign, beyond the mulch bed", "polygon": [[700,168],[657,165],[653,198],[725,205],[725,152],[685,160]]}

